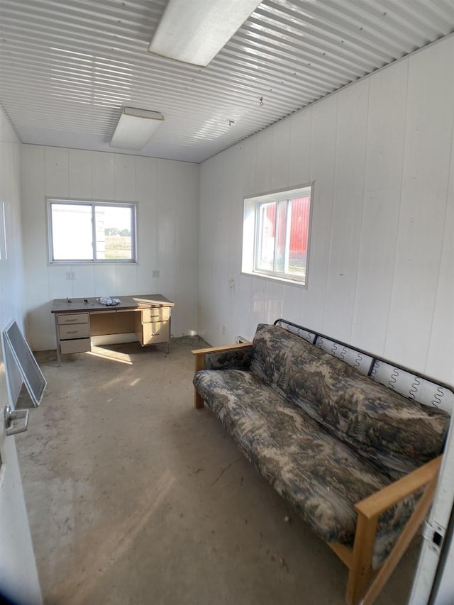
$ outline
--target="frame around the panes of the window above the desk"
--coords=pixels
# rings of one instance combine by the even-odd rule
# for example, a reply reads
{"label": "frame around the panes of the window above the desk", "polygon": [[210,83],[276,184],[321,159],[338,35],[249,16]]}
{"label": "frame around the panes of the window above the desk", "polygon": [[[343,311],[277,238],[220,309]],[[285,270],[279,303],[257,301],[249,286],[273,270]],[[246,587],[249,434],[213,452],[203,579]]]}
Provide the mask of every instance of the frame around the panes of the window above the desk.
{"label": "frame around the panes of the window above the desk", "polygon": [[[92,208],[92,259],[54,259],[53,257],[53,231],[52,231],[52,204],[67,206],[91,206]],[[62,197],[48,197],[45,199],[46,222],[48,233],[48,265],[111,265],[112,263],[138,264],[137,254],[137,226],[138,207],[135,201],[98,200],[98,199],[73,199]],[[131,258],[96,258],[96,206],[109,206],[111,208],[129,208],[131,217]]]}

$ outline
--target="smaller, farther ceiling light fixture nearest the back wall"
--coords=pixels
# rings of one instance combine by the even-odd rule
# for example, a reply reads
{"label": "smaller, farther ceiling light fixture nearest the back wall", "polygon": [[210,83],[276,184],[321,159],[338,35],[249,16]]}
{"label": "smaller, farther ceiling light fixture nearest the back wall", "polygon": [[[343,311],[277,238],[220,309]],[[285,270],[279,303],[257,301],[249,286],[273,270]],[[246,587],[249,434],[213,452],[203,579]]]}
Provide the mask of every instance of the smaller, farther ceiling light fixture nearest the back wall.
{"label": "smaller, farther ceiling light fixture nearest the back wall", "polygon": [[159,111],[123,107],[110,146],[119,149],[142,149],[163,121],[164,116]]}

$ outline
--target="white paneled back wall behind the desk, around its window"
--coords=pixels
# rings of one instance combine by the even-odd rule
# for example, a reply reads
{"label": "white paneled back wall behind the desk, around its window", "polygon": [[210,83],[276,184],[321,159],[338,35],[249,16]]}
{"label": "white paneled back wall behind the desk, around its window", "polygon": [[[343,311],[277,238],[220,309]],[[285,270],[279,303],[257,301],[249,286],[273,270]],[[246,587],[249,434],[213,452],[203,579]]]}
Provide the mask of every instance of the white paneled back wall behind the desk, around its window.
{"label": "white paneled back wall behind the desk, around its window", "polygon": [[[27,334],[55,348],[55,298],[163,294],[172,334],[197,331],[199,165],[106,152],[22,145]],[[138,263],[49,265],[46,197],[136,201]],[[160,277],[153,278],[152,271]],[[67,280],[72,271],[74,281]]]}

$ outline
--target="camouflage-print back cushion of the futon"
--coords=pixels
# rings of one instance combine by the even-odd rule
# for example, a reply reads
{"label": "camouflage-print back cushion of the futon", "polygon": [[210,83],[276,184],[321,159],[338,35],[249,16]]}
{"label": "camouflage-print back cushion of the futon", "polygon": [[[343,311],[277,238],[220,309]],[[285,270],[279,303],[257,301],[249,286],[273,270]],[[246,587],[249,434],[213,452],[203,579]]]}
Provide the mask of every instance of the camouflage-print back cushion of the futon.
{"label": "camouflage-print back cushion of the futon", "polygon": [[448,413],[406,399],[283,328],[259,324],[250,369],[393,478],[441,452]]}

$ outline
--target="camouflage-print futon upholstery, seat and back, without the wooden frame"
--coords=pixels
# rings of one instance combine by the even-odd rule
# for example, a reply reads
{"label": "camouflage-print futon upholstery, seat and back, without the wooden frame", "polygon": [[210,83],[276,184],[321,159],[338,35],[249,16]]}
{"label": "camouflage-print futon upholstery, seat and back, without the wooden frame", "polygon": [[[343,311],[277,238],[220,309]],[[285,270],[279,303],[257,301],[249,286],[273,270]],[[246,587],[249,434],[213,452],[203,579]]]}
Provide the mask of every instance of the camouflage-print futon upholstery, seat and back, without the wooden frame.
{"label": "camouflage-print futon upholstery, seat and back, without the wooden frame", "polygon": [[[194,353],[196,406],[214,411],[250,462],[330,545],[353,544],[355,504],[441,453],[447,413],[406,399],[284,328],[259,324],[252,345],[205,350],[203,363]],[[373,569],[419,495],[380,515]]]}

